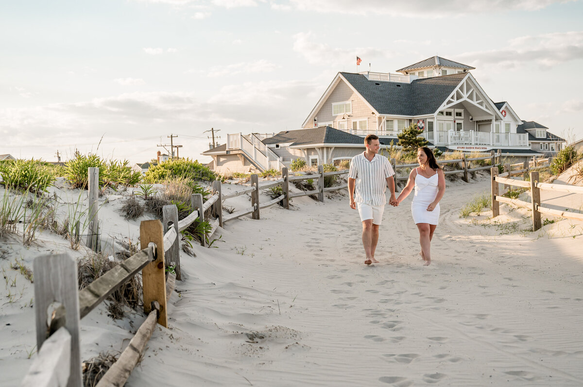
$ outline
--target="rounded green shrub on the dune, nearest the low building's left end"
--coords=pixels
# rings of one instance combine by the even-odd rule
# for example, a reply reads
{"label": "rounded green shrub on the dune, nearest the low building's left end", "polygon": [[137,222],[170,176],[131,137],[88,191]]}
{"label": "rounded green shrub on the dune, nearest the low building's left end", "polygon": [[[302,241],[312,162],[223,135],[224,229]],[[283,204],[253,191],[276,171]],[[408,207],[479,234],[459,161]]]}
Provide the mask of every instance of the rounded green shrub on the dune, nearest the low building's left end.
{"label": "rounded green shrub on the dune, nearest the low building's left end", "polygon": [[144,176],[146,183],[162,183],[164,180],[182,177],[194,181],[212,182],[217,179],[215,172],[191,159],[166,160],[158,165],[150,166]]}

